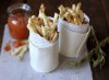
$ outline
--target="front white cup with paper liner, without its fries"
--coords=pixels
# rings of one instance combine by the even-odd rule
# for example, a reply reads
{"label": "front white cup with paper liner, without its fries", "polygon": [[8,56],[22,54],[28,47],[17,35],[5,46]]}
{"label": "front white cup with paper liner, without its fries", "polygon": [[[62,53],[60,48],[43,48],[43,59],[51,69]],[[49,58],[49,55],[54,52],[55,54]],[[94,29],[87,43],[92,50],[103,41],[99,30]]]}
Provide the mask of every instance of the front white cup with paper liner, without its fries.
{"label": "front white cup with paper liner, without its fries", "polygon": [[50,72],[59,65],[59,41],[50,43],[39,34],[29,32],[31,66],[37,72]]}

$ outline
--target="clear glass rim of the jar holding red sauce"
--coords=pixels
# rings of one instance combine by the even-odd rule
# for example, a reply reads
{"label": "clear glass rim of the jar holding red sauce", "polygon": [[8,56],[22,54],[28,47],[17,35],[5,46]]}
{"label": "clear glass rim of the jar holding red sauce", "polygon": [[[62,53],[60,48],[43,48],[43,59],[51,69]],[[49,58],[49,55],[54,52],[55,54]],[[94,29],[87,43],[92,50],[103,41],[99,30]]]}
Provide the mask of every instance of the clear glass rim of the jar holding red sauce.
{"label": "clear glass rim of the jar holding red sauce", "polygon": [[15,3],[15,4],[12,4],[8,8],[8,13],[12,13],[14,10],[17,10],[17,9],[22,9],[26,12],[29,12],[32,9],[31,9],[31,5],[28,5],[27,3]]}

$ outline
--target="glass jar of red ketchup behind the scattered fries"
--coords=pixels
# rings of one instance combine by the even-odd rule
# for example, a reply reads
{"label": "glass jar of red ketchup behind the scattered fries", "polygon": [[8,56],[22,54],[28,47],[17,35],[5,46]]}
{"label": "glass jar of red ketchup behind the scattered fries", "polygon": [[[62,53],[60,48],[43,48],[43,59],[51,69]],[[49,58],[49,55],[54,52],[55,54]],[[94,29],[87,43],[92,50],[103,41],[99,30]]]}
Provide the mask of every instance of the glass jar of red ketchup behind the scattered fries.
{"label": "glass jar of red ketchup behind the scattered fries", "polygon": [[16,39],[28,37],[27,21],[31,7],[25,3],[13,4],[8,8],[8,26],[10,35]]}

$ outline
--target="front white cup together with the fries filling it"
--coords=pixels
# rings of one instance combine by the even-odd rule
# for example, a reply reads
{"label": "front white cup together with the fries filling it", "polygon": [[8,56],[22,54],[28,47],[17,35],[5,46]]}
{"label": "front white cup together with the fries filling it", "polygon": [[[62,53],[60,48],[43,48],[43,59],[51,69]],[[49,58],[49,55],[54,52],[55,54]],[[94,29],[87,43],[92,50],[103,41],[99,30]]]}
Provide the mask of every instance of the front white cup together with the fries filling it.
{"label": "front white cup together with the fries filling it", "polygon": [[38,16],[28,19],[31,66],[37,72],[50,72],[59,65],[58,13],[53,18],[45,14],[40,5]]}

